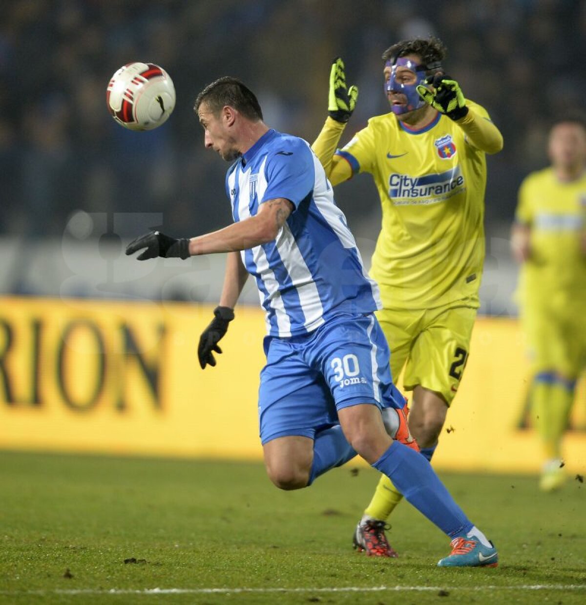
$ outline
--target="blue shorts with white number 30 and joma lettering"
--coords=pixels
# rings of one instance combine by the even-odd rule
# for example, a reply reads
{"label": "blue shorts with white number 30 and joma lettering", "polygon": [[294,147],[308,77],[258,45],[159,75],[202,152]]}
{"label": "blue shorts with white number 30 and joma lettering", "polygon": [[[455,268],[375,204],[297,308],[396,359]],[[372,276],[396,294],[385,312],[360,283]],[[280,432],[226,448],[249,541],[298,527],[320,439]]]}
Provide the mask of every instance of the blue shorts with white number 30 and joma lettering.
{"label": "blue shorts with white number 30 and joma lettering", "polygon": [[261,442],[339,424],[357,404],[402,408],[392,384],[389,347],[373,314],[339,315],[304,336],[264,339],[258,415]]}

